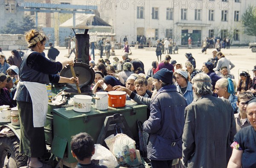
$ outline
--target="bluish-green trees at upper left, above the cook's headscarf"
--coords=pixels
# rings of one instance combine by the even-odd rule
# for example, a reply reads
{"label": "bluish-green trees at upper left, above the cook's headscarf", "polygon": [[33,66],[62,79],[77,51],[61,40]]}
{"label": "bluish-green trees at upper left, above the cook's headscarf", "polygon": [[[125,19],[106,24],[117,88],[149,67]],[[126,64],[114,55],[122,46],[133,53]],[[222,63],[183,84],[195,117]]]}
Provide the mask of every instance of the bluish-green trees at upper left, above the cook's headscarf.
{"label": "bluish-green trees at upper left, above the cook's headscarf", "polygon": [[35,29],[35,22],[29,15],[25,15],[22,20],[21,26],[19,26],[14,19],[10,19],[6,26],[1,28],[1,34],[24,34],[30,29]]}

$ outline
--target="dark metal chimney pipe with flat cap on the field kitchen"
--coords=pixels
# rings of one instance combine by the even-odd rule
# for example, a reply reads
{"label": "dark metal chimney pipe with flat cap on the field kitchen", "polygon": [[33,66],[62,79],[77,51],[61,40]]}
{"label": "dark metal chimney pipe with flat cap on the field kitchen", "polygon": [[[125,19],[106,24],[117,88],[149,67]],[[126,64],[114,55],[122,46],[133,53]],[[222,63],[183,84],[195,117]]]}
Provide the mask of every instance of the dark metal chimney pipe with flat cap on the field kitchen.
{"label": "dark metal chimney pipe with flat cap on the field kitchen", "polygon": [[89,35],[87,26],[77,26],[72,28],[76,35],[76,59],[81,59],[83,63],[89,65]]}

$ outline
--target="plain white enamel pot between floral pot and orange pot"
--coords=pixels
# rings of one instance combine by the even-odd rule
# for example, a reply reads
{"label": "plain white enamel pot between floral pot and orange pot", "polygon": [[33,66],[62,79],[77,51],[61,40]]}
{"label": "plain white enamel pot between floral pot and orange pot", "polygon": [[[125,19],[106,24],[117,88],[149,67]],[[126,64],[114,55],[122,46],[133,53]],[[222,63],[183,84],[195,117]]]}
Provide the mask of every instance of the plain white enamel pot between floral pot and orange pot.
{"label": "plain white enamel pot between floral pot and orange pot", "polygon": [[108,92],[96,92],[95,97],[96,109],[108,110]]}

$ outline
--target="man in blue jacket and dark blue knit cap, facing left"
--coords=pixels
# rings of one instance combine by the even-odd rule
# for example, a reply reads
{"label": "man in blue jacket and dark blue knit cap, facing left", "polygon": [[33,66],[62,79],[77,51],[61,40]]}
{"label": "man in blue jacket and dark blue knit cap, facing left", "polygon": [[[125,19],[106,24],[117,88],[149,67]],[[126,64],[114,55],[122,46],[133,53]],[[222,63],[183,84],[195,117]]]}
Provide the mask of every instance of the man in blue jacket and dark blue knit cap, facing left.
{"label": "man in blue jacket and dark blue knit cap, facing left", "polygon": [[157,94],[150,104],[150,116],[143,130],[150,133],[148,159],[153,168],[171,168],[172,160],[182,155],[185,98],[172,85],[173,72],[163,68],[154,75]]}

